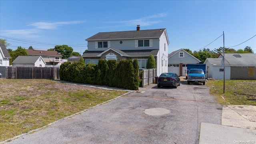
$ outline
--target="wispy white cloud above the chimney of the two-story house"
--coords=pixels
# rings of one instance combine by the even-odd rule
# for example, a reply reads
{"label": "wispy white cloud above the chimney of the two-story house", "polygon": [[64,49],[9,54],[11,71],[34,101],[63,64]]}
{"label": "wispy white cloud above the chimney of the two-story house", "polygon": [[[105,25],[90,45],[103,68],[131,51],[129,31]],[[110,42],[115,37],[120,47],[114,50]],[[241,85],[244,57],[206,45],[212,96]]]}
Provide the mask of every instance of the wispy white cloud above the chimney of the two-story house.
{"label": "wispy white cloud above the chimney of the two-story house", "polygon": [[159,14],[154,14],[152,16],[146,16],[146,17],[142,17],[134,20],[110,21],[106,23],[120,23],[125,26],[134,26],[137,24],[140,24],[140,26],[150,26],[153,24],[158,24],[160,22],[163,22],[162,20],[156,20],[156,19],[165,17],[167,15],[168,15],[167,13],[159,13]]}

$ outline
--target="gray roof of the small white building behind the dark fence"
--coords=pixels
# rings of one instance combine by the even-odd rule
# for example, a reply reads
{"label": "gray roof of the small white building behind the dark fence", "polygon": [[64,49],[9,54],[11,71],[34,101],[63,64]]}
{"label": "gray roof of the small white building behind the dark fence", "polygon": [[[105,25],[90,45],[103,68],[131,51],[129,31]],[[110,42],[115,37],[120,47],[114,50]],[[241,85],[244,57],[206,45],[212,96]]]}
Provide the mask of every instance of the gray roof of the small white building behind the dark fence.
{"label": "gray roof of the small white building behind the dark fence", "polygon": [[39,58],[41,58],[41,60],[46,64],[42,56],[18,56],[12,63],[13,64],[35,64]]}

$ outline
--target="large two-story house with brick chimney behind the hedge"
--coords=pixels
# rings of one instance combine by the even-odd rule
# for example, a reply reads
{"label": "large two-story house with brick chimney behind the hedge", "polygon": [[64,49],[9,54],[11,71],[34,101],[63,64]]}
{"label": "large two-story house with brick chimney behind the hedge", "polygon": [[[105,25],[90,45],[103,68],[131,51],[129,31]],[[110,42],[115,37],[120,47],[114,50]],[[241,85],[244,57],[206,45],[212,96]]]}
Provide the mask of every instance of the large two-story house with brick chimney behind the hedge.
{"label": "large two-story house with brick chimney behind the hedge", "polygon": [[148,57],[156,61],[157,75],[168,72],[169,40],[165,28],[121,32],[99,32],[87,38],[88,52],[82,57],[85,63],[98,64],[99,59],[138,60],[139,68],[146,69]]}

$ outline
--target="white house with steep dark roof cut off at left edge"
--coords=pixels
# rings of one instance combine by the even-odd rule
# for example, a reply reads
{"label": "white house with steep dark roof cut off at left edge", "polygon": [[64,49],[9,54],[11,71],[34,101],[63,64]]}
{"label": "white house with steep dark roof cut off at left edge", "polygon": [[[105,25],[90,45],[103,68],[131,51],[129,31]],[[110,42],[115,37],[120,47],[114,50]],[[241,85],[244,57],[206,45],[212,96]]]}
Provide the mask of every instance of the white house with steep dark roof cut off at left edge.
{"label": "white house with steep dark roof cut off at left edge", "polygon": [[9,66],[10,54],[4,43],[0,40],[0,66]]}

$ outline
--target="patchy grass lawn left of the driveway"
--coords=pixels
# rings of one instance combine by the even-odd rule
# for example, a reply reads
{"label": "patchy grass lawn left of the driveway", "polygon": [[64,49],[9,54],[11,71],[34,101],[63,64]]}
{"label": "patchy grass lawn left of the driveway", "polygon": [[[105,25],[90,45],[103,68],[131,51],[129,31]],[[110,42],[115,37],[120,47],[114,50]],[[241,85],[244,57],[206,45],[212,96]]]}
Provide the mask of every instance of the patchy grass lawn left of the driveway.
{"label": "patchy grass lawn left of the driveway", "polygon": [[0,79],[0,141],[46,126],[126,92],[44,79]]}

